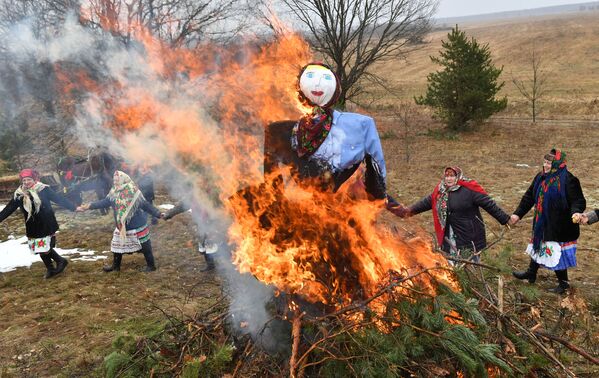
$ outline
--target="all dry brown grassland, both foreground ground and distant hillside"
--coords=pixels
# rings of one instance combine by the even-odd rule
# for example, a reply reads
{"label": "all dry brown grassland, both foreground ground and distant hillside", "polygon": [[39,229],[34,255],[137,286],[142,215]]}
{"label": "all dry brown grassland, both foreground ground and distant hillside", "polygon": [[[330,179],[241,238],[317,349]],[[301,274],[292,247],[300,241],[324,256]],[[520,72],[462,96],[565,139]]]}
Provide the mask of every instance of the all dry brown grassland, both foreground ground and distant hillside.
{"label": "all dry brown grassland, both foreground ground and distant hillside", "polygon": [[[488,42],[496,62],[504,65],[505,93],[510,107],[506,116],[525,116],[526,106],[511,84],[510,74],[527,69],[527,52],[533,41],[539,47],[551,74],[551,90],[541,117],[596,120],[599,97],[599,23],[591,18],[544,18],[464,27],[469,35]],[[446,35],[436,32],[431,43],[410,54],[406,61],[378,68],[401,88],[399,98],[386,97],[377,104],[397,105],[422,93],[426,74],[435,69],[428,56],[436,53]],[[381,96],[386,96],[380,94]],[[531,124],[524,120],[491,121],[480,130],[459,137],[440,132],[440,125],[425,112],[413,110],[407,140],[395,114],[379,106],[376,118],[388,164],[389,192],[409,204],[432,191],[443,167],[458,165],[479,181],[501,207],[513,211],[534,175],[542,156],[555,146],[568,153],[570,170],[580,178],[588,208],[599,207],[599,165],[594,156],[599,145],[599,124],[564,121]],[[408,149],[409,146],[409,149]],[[409,151],[409,152],[408,152]],[[406,161],[409,154],[410,160]],[[170,202],[162,194],[157,203]],[[493,241],[501,226],[484,215],[488,239]],[[432,232],[432,216],[422,214],[405,222]],[[161,222],[152,229],[158,271],[138,272],[144,260],[139,254],[125,256],[120,273],[106,274],[104,262],[72,262],[56,279],[44,280],[41,263],[31,269],[0,274],[0,377],[102,376],[102,361],[111,342],[120,334],[144,335],[163,324],[162,311],[192,314],[205,308],[220,294],[218,275],[201,273],[203,260],[192,247],[189,215]],[[13,215],[0,240],[10,232],[24,234],[20,214]],[[62,248],[109,249],[112,218],[96,213],[59,212]],[[512,268],[523,269],[523,254],[530,234],[528,214],[485,252],[483,261],[497,265],[507,281],[508,295],[525,296],[540,310],[543,328],[562,319],[564,297],[546,292],[555,286],[551,272],[541,271],[534,286],[513,280]],[[579,266],[570,271],[578,299],[569,309],[559,334],[597,355],[599,330],[599,226],[582,230]],[[589,339],[588,336],[591,335]],[[594,346],[593,346],[594,344]],[[593,349],[595,348],[595,349]],[[599,368],[555,345],[555,352],[581,376],[597,376]]]}

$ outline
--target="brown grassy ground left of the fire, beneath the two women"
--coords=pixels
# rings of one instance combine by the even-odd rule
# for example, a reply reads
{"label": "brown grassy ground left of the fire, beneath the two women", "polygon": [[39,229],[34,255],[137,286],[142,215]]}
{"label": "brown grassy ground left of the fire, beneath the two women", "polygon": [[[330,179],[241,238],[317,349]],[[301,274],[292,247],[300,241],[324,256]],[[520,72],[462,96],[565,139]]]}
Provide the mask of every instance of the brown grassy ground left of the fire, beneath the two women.
{"label": "brown grassy ground left of the fire, beneath the two women", "polygon": [[[157,203],[172,203],[159,196]],[[21,214],[4,223],[23,235]],[[114,223],[97,211],[58,211],[62,248],[106,251]],[[104,273],[110,261],[72,261],[61,276],[44,280],[43,264],[0,273],[0,377],[102,376],[99,367],[115,336],[142,335],[165,321],[162,311],[193,314],[220,294],[218,275],[201,273],[192,247],[189,214],[152,226],[158,270],[142,273],[143,255],[123,258],[120,273]],[[6,240],[6,228],[0,229]],[[109,252],[105,252],[110,255]],[[69,256],[70,257],[70,256]]]}

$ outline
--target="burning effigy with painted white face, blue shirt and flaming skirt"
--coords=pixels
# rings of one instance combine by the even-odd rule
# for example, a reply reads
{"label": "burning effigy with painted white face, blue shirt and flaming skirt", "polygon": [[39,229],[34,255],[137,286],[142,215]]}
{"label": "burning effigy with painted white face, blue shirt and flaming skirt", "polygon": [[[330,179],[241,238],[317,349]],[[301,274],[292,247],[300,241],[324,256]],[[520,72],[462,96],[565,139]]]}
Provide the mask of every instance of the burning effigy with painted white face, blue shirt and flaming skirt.
{"label": "burning effigy with painted white face, blue shirt and flaming skirt", "polygon": [[394,200],[373,119],[332,109],[339,81],[323,64],[306,65],[297,88],[310,112],[267,126],[264,183],[229,202],[239,270],[332,309],[373,296],[390,274],[440,268],[431,274],[451,282],[431,245],[377,223]]}

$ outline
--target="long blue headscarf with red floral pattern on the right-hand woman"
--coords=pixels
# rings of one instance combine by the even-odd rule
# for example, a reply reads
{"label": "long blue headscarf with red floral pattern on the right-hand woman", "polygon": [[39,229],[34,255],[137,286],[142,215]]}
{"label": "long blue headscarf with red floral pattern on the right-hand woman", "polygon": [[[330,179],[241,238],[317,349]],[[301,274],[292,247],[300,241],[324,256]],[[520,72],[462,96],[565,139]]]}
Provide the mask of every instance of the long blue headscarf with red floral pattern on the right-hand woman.
{"label": "long blue headscarf with red floral pattern on the right-hand woman", "polygon": [[564,209],[568,207],[566,197],[566,184],[568,178],[568,167],[566,164],[566,153],[553,149],[545,159],[550,160],[551,169],[548,173],[542,172],[535,179],[533,194],[535,195],[535,207],[532,218],[532,246],[535,251],[541,248],[543,233],[547,225],[549,208]]}

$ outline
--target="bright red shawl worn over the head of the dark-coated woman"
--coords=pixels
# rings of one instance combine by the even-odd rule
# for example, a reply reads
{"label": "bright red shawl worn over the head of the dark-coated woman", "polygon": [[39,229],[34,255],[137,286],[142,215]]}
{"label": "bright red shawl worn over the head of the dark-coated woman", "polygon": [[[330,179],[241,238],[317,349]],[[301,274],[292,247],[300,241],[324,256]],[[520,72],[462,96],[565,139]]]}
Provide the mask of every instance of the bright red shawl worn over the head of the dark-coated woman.
{"label": "bright red shawl worn over the head of the dark-coated woman", "polygon": [[464,176],[460,167],[447,167],[443,171],[451,169],[456,174],[456,184],[448,187],[445,185],[445,178],[441,179],[441,182],[433,190],[431,196],[432,199],[432,210],[433,210],[433,221],[435,224],[435,234],[437,236],[437,244],[439,247],[443,245],[443,239],[445,237],[445,226],[447,224],[447,204],[449,201],[449,192],[453,192],[461,188],[462,186],[470,189],[477,193],[487,194],[480,184],[474,180],[471,180]]}

